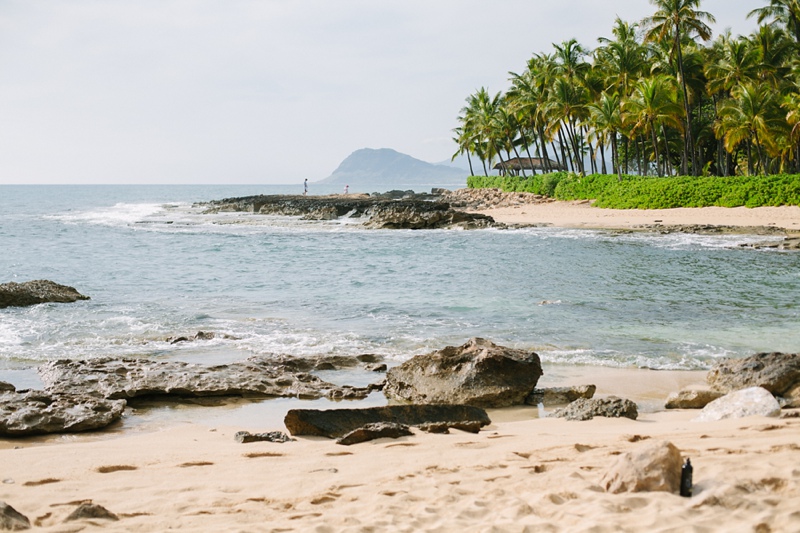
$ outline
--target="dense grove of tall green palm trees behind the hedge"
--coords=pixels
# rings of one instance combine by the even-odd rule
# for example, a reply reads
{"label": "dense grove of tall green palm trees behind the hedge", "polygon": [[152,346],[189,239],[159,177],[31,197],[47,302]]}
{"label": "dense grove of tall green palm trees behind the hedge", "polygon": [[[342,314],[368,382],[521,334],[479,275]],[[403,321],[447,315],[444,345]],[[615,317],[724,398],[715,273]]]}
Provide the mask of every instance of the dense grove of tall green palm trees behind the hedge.
{"label": "dense grove of tall green palm trees behind the hedge", "polygon": [[[483,87],[468,96],[453,157],[465,154],[471,173],[486,176],[492,168],[527,179],[536,170],[616,174],[622,182],[631,180],[623,174],[672,176],[674,186],[637,187],[691,202],[706,194],[677,176],[800,173],[800,0],[767,0],[748,15],[756,31],[713,41],[714,17],[701,0],[650,2],[652,16],[617,19],[596,49],[575,39],[553,44],[509,73],[505,92]],[[553,179],[528,186],[549,190]],[[724,183],[730,200],[717,201],[747,204],[766,194]]]}

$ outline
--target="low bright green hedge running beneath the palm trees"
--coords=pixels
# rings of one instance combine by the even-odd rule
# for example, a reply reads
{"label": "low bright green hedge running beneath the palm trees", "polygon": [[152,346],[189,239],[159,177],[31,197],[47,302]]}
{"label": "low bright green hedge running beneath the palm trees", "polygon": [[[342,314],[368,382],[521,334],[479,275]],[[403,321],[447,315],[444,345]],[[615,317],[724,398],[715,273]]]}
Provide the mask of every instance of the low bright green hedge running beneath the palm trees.
{"label": "low bright green hedge running beneath the palm trees", "polygon": [[472,176],[472,188],[530,192],[558,200],[595,200],[612,209],[673,207],[761,207],[800,205],[800,175],[654,177],[572,172],[514,176]]}

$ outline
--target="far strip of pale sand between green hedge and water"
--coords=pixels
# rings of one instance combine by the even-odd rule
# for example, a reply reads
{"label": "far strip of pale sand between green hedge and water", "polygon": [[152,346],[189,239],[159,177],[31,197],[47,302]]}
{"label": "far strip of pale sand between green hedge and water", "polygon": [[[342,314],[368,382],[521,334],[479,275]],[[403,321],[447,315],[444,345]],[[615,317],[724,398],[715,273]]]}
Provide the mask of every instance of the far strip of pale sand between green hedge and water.
{"label": "far strip of pale sand between green hedge and water", "polygon": [[479,211],[505,224],[565,228],[631,229],[641,226],[712,225],[776,227],[800,233],[800,207],[700,207],[676,209],[601,209],[586,201],[531,203]]}

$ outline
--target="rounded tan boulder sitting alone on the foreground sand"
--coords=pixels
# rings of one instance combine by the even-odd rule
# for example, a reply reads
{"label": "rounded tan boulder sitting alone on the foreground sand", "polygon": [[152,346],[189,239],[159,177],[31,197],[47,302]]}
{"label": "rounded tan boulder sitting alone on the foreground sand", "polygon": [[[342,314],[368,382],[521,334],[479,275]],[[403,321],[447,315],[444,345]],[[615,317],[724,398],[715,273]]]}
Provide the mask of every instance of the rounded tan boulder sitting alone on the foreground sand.
{"label": "rounded tan boulder sitting alone on the foreground sand", "polygon": [[680,490],[681,452],[671,442],[656,441],[617,457],[600,485],[612,493]]}

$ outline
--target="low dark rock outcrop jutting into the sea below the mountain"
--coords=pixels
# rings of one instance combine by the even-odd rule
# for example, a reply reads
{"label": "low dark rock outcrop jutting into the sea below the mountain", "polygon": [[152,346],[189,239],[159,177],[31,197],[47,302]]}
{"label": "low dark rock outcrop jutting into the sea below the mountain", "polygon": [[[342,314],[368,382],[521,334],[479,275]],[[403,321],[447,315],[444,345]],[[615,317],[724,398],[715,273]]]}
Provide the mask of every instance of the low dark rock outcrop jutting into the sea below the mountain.
{"label": "low dark rock outcrop jutting into the sea below the mountain", "polygon": [[376,229],[466,229],[495,226],[486,215],[465,213],[427,194],[348,196],[246,196],[199,204],[204,213],[243,211],[262,215],[298,216],[306,220],[361,219]]}

